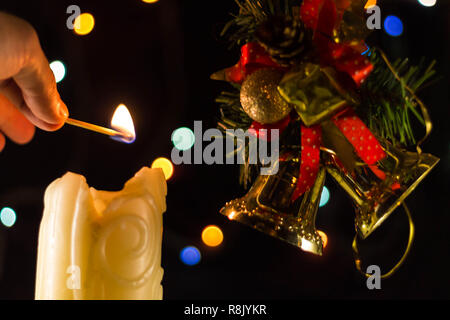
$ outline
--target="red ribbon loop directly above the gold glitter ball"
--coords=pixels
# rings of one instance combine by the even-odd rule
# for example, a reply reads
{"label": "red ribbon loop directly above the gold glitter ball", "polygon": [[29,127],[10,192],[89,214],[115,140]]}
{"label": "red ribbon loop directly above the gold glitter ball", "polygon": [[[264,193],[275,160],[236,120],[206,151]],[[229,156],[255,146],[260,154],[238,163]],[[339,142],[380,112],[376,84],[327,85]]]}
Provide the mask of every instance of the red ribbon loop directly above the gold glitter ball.
{"label": "red ribbon loop directly above the gold glitter ball", "polygon": [[226,69],[225,76],[228,81],[242,83],[247,76],[264,67],[285,69],[273,61],[266,50],[258,43],[249,42],[241,47],[239,62]]}

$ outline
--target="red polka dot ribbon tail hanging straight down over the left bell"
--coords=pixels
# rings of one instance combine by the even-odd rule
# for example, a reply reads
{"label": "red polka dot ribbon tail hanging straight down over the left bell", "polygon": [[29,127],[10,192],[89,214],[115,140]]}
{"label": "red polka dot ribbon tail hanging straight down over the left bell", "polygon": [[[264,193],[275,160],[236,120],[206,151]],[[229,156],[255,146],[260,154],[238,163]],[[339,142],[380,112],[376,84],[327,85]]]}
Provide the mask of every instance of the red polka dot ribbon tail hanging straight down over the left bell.
{"label": "red polka dot ribbon tail hanging straight down over the left bell", "polygon": [[301,126],[301,163],[297,187],[292,194],[295,201],[308,191],[316,181],[320,166],[320,145],[322,143],[322,129],[320,125],[311,127]]}

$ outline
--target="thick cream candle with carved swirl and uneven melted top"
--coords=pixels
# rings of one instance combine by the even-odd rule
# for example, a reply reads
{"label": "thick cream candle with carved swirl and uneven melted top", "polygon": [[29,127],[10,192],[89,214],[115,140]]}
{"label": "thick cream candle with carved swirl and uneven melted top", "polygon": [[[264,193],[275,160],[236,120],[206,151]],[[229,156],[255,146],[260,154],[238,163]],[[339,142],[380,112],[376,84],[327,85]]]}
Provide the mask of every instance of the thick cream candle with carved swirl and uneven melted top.
{"label": "thick cream candle with carved swirl and uneven melted top", "polygon": [[78,174],[51,183],[39,230],[36,299],[162,299],[160,169],[142,168],[121,191]]}

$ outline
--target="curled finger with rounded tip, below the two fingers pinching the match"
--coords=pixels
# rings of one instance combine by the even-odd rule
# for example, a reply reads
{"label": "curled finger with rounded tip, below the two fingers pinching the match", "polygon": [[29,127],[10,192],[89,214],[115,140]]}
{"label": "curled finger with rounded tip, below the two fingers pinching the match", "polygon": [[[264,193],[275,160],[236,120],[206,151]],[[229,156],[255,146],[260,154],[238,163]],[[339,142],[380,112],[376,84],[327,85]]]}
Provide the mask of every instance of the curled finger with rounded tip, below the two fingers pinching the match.
{"label": "curled finger with rounded tip, below the two fingers pinching the match", "polygon": [[0,94],[0,131],[19,144],[28,143],[35,131],[30,121],[2,94]]}

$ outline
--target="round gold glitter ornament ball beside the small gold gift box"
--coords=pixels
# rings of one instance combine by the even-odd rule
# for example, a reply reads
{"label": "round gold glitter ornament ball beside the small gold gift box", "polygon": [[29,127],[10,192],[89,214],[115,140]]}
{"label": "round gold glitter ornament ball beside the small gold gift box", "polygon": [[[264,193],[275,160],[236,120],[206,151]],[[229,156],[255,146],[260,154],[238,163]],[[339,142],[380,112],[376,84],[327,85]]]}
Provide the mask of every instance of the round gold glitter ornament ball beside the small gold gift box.
{"label": "round gold glitter ornament ball beside the small gold gift box", "polygon": [[249,75],[241,87],[241,105],[250,118],[268,124],[280,121],[292,106],[278,93],[283,72],[274,68],[259,69]]}

